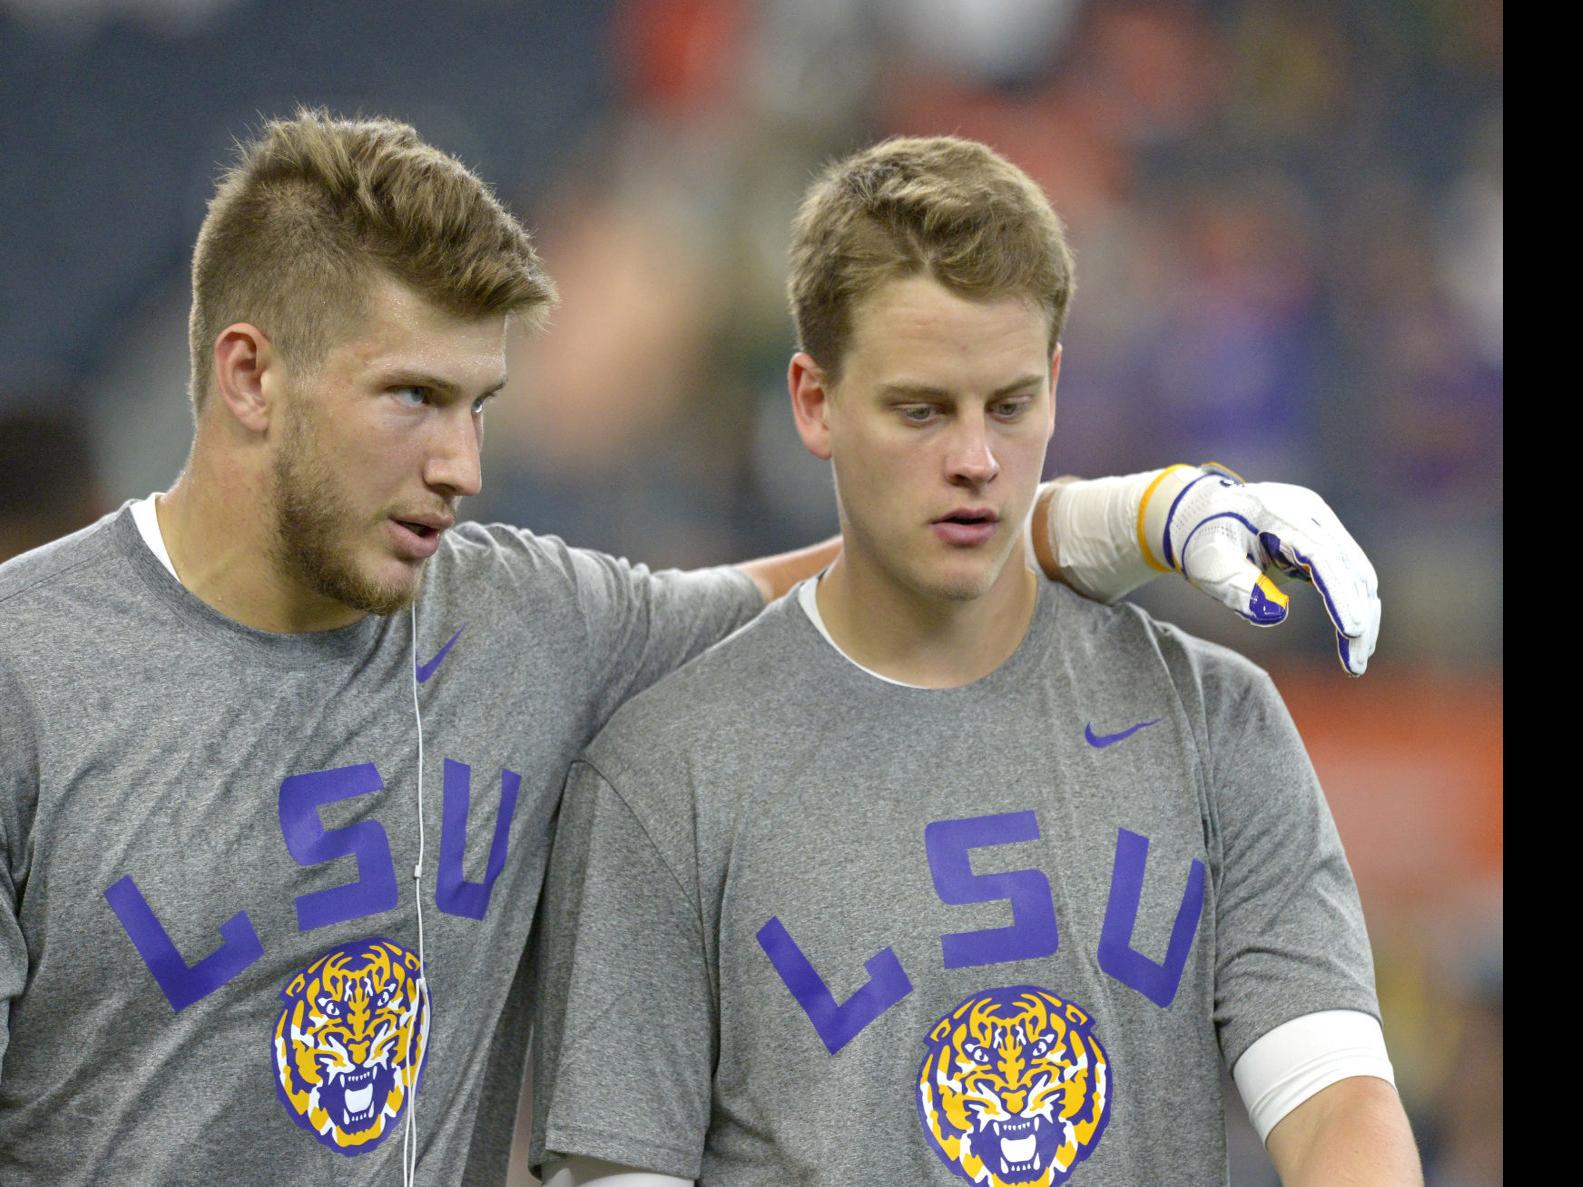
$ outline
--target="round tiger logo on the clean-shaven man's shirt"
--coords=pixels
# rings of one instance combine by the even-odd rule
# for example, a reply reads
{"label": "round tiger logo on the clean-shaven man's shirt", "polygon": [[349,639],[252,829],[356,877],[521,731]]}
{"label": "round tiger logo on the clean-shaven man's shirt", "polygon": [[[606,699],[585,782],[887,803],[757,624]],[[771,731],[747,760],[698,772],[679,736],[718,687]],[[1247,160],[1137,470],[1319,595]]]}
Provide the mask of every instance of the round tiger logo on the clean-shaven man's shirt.
{"label": "round tiger logo on the clean-shaven man's shirt", "polygon": [[967,1182],[1051,1187],[1099,1146],[1110,1059],[1070,1002],[1034,986],[988,989],[936,1022],[926,1046],[918,1121]]}

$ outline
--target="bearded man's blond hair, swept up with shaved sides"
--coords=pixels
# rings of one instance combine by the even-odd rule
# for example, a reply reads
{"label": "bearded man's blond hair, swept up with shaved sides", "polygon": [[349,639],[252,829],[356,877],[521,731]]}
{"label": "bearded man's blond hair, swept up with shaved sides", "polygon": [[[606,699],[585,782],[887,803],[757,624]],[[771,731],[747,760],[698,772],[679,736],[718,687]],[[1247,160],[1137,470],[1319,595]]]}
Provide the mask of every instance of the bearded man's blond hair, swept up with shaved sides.
{"label": "bearded man's blond hair, swept up with shaved sides", "polygon": [[538,323],[556,302],[522,225],[405,123],[298,109],[237,147],[193,248],[192,399],[220,331],[258,326],[312,367],[363,312],[377,271],[459,317]]}

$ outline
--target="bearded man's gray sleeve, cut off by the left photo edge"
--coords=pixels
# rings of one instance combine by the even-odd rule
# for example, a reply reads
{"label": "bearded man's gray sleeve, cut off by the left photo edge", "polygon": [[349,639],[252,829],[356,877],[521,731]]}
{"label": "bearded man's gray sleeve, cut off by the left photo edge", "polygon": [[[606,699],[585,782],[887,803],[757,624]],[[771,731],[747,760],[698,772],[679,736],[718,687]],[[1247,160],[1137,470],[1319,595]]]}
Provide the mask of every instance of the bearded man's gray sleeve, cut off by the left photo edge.
{"label": "bearded man's gray sleeve, cut off by the left photo edge", "polygon": [[0,660],[0,1081],[11,1046],[11,1003],[27,984],[21,897],[27,882],[27,831],[38,794],[30,701]]}

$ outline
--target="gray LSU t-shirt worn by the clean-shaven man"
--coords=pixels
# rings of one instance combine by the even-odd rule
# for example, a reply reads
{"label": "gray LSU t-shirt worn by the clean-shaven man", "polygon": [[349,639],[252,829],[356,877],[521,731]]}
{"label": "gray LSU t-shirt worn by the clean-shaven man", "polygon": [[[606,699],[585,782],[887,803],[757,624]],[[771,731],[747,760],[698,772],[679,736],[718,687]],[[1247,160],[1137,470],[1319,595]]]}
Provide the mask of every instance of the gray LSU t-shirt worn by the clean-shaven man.
{"label": "gray LSU t-shirt worn by the clean-shaven man", "polygon": [[951,690],[771,606],[573,768],[545,908],[535,1163],[709,1187],[1224,1182],[1222,1060],[1379,1013],[1270,679],[1056,586]]}

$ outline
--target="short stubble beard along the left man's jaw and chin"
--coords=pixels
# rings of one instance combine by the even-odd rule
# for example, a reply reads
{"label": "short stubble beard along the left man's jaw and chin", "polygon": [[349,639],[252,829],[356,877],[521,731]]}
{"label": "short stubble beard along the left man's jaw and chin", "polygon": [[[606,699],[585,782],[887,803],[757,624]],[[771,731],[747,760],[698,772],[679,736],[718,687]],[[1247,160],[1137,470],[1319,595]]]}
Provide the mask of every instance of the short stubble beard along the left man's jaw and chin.
{"label": "short stubble beard along the left man's jaw and chin", "polygon": [[358,567],[348,533],[358,530],[359,516],[318,454],[310,421],[301,397],[287,405],[272,467],[274,560],[321,597],[366,614],[394,614],[418,595],[423,570],[410,581],[378,582]]}

